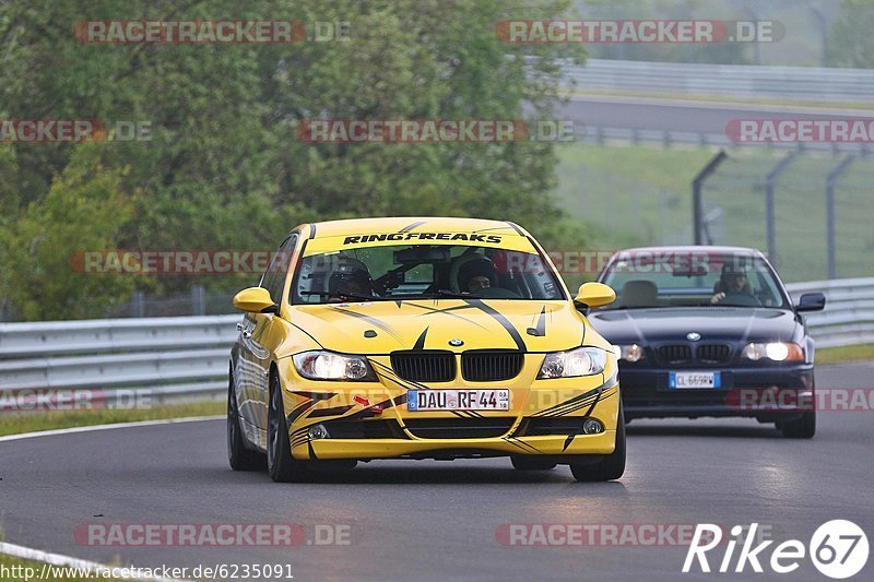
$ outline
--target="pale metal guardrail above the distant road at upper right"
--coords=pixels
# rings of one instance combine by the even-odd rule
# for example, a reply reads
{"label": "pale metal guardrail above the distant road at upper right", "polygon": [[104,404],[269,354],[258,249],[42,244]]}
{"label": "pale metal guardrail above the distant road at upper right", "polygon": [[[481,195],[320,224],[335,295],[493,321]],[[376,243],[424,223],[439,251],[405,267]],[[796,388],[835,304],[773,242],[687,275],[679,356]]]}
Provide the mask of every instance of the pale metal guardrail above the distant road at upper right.
{"label": "pale metal guardrail above the distant road at upper right", "polygon": [[565,61],[563,70],[584,90],[831,103],[874,95],[872,69],[589,59],[584,66]]}

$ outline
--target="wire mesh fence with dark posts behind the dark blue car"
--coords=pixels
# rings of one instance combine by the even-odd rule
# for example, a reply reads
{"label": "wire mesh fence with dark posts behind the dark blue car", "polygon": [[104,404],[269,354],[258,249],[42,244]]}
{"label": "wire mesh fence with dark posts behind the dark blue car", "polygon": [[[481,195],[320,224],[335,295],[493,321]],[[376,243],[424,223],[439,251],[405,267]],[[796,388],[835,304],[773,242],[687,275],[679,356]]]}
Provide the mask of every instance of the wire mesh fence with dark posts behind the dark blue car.
{"label": "wire mesh fence with dark posts behind the dark blue car", "polygon": [[787,281],[872,275],[874,158],[732,152],[701,188],[705,244],[767,250]]}

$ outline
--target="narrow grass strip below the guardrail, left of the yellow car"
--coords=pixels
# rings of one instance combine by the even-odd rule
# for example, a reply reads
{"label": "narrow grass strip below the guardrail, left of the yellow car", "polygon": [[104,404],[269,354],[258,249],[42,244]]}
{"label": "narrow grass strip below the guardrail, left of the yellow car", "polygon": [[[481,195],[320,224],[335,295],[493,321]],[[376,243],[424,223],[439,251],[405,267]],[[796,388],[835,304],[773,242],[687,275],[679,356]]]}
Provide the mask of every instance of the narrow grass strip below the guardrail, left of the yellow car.
{"label": "narrow grass strip below the guardrail, left of the yellow car", "polygon": [[101,409],[4,414],[0,416],[0,418],[2,418],[2,423],[0,423],[0,436],[33,432],[35,430],[111,425],[114,423],[135,423],[139,420],[185,418],[188,416],[214,416],[224,414],[225,407],[226,404],[224,401],[212,401],[167,404],[135,411]]}

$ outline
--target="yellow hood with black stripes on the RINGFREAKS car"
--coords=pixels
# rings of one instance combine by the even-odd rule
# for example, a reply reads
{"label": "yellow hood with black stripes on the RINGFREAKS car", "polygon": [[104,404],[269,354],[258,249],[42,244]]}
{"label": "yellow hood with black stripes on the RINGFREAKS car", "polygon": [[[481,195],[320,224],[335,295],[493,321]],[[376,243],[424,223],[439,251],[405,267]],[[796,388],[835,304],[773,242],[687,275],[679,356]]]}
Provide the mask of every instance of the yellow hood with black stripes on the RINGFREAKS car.
{"label": "yellow hood with black stripes on the RINGFREAKS car", "polygon": [[[487,348],[555,352],[581,345],[587,326],[567,301],[500,299],[293,306],[288,319],[326,349],[346,354]],[[452,345],[458,340],[463,343]]]}

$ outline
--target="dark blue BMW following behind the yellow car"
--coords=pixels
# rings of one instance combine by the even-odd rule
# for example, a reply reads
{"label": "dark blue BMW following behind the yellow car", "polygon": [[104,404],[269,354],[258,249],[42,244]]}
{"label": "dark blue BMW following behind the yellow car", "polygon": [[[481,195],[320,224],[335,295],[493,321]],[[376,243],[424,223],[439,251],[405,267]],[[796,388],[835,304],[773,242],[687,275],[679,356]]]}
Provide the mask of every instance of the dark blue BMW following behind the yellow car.
{"label": "dark blue BMW following behind the yellow car", "polygon": [[747,416],[812,438],[814,341],[761,252],[651,247],[616,252],[599,282],[616,301],[588,312],[616,346],[626,419]]}

